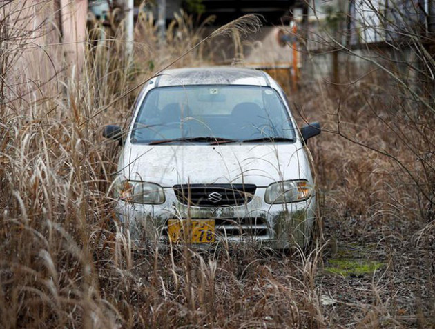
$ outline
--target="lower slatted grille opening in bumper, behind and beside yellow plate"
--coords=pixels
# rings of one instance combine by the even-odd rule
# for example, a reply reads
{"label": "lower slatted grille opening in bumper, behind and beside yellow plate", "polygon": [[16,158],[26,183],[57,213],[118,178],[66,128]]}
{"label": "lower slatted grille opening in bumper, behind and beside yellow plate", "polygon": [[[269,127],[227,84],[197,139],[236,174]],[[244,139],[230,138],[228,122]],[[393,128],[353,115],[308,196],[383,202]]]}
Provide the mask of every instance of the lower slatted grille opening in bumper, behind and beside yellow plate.
{"label": "lower slatted grille opening in bumper, behind and beside yellow plate", "polygon": [[[184,219],[186,220],[186,219]],[[198,220],[198,219],[195,219]],[[200,220],[200,219],[199,219]],[[260,217],[244,218],[215,218],[215,233],[217,239],[226,237],[268,237],[267,221]],[[162,236],[168,236],[168,223],[166,222]]]}

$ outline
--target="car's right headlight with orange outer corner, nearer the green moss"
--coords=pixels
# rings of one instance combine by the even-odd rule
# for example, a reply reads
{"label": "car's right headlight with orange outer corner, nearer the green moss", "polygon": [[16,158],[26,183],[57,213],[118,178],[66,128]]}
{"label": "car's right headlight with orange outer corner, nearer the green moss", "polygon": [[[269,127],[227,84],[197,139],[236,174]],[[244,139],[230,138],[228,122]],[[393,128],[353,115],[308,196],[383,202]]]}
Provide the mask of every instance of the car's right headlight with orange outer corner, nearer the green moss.
{"label": "car's right headlight with orange outer corner, nearer the green moss", "polygon": [[308,181],[278,181],[269,185],[264,193],[266,203],[305,201],[313,192]]}

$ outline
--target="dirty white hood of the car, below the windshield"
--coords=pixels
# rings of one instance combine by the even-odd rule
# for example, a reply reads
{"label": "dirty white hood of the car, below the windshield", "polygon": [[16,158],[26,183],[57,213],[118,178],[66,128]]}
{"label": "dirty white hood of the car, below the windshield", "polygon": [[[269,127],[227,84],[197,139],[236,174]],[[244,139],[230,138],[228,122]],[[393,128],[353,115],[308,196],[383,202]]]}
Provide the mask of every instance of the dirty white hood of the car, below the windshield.
{"label": "dirty white hood of the car, below the windshield", "polygon": [[253,183],[307,179],[311,171],[300,142],[222,145],[128,144],[119,159],[119,174],[163,187],[182,183]]}

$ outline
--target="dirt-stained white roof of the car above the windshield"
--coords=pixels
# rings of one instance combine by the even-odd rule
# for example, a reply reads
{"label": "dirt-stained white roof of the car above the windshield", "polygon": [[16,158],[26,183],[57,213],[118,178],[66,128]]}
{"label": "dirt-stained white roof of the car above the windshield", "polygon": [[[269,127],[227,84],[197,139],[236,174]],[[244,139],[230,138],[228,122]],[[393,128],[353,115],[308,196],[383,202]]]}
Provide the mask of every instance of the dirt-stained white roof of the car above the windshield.
{"label": "dirt-stained white roof of the car above the windshield", "polygon": [[155,87],[189,85],[270,86],[266,73],[251,68],[215,66],[209,68],[176,68],[157,77]]}

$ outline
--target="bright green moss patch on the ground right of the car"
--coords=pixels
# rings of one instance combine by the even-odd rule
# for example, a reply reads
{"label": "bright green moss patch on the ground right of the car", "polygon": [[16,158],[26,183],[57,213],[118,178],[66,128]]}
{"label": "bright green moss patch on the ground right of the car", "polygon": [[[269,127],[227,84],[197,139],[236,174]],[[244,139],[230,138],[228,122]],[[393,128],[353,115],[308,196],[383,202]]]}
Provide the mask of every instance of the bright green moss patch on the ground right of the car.
{"label": "bright green moss patch on the ground right of the car", "polygon": [[329,259],[328,263],[329,266],[325,267],[325,271],[343,277],[371,275],[384,265],[378,261],[366,261],[364,259]]}

